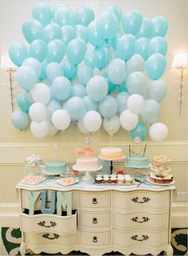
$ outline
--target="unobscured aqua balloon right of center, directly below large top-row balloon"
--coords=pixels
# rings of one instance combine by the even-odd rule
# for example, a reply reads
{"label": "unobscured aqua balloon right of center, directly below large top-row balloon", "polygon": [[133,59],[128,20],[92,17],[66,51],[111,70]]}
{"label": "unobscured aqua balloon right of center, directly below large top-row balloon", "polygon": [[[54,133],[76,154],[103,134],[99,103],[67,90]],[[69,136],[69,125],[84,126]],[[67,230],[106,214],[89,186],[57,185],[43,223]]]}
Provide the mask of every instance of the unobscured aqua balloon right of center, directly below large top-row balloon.
{"label": "unobscured aqua balloon right of center, directly below large top-row balloon", "polygon": [[135,53],[135,37],[132,34],[124,34],[116,45],[117,57],[128,61]]}

